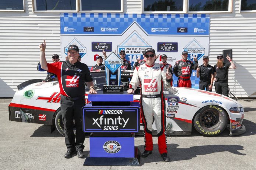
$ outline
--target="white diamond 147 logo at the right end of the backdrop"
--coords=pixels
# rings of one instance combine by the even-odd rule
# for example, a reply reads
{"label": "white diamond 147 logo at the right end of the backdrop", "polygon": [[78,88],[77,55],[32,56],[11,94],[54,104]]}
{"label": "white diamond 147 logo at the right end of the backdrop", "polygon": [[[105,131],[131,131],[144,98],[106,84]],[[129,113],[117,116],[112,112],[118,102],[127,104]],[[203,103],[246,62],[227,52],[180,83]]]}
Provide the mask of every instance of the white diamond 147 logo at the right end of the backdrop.
{"label": "white diamond 147 logo at the right end of the backdrop", "polygon": [[199,60],[203,55],[205,55],[205,48],[203,48],[195,38],[183,48],[183,51],[188,52],[188,59],[192,62],[194,57],[197,57]]}

